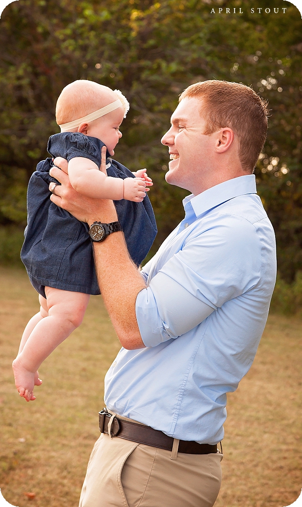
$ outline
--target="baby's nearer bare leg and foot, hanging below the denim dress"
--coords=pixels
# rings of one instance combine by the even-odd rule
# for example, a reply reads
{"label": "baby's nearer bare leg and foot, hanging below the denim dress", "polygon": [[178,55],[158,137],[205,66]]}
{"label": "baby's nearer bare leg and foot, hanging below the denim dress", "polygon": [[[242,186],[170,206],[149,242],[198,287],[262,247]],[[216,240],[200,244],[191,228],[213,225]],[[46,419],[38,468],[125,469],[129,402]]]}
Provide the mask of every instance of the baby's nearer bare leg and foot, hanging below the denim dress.
{"label": "baby's nearer bare leg and foot, hanging below the denim dress", "polygon": [[48,316],[37,321],[13,362],[16,387],[26,401],[34,400],[36,370],[51,352],[82,323],[89,295],[45,287]]}

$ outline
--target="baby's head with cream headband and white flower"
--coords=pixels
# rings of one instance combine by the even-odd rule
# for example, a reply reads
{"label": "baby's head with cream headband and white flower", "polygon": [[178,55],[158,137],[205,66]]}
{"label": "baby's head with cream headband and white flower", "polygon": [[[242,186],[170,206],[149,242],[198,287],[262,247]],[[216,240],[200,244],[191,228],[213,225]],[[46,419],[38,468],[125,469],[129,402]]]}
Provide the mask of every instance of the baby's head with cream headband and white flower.
{"label": "baby's head with cream headband and white flower", "polygon": [[[106,106],[109,112],[103,109]],[[119,127],[128,110],[129,103],[119,90],[81,79],[63,88],[57,100],[56,121],[62,132],[81,132],[101,139],[114,155],[122,137]]]}

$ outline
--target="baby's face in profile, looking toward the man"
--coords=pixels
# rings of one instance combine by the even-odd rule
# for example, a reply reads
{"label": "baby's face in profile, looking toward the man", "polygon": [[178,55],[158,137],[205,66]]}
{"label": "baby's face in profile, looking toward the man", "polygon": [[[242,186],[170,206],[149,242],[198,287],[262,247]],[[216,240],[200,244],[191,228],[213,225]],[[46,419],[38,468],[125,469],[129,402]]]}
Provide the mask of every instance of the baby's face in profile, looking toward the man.
{"label": "baby's face in profile, looking toward the man", "polygon": [[115,111],[95,120],[89,124],[87,135],[97,137],[104,144],[111,156],[115,154],[114,149],[122,137],[119,127],[124,119],[124,108],[119,107]]}

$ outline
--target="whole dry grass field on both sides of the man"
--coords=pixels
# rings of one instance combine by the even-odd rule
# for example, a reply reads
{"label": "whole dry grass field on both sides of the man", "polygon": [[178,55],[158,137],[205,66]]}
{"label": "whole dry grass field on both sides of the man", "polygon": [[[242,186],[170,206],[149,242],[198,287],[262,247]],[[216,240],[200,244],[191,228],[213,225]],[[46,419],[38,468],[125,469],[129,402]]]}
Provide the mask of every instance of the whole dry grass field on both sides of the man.
{"label": "whole dry grass field on both sides of the man", "polygon": [[[0,268],[0,298],[1,491],[18,507],[77,507],[119,342],[101,298],[91,298],[81,328],[40,368],[36,401],[26,403],[11,363],[37,296],[23,270]],[[250,372],[228,397],[215,507],[284,507],[299,496],[301,329],[302,320],[271,315]]]}

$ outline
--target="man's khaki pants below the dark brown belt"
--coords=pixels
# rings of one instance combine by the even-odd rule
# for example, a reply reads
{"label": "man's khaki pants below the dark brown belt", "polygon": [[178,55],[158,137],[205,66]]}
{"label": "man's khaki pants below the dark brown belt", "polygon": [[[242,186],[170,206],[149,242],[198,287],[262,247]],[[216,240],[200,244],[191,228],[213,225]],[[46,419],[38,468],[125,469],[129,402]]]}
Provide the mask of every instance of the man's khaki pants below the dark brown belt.
{"label": "man's khaki pants below the dark brown belt", "polygon": [[92,450],[79,507],[212,507],[222,454],[183,454],[102,433]]}

